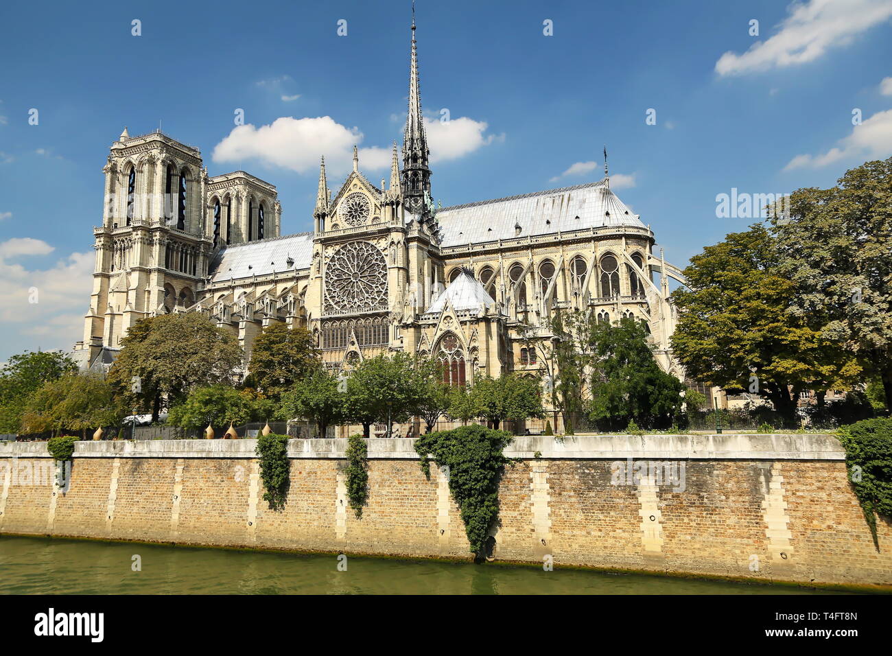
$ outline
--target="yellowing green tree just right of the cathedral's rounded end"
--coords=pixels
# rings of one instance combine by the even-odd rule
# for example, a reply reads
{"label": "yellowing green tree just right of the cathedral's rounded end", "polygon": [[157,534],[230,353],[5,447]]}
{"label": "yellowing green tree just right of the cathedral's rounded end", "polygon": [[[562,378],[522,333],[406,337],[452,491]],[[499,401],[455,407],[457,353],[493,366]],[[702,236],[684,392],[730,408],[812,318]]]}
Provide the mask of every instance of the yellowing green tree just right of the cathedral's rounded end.
{"label": "yellowing green tree just right of the cathedral's rounded end", "polygon": [[838,343],[789,311],[795,286],[763,225],[706,246],[673,292],[673,353],[690,378],[763,394],[788,425],[806,389],[847,388],[860,369]]}

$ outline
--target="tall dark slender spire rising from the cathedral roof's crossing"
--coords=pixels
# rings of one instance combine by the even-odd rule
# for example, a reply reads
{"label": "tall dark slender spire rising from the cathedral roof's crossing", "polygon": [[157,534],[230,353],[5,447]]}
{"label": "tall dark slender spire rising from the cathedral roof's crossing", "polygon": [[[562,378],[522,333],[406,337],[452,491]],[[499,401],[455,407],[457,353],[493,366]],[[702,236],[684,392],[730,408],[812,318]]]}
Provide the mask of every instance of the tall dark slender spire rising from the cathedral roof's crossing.
{"label": "tall dark slender spire rising from the cathedral roof's crossing", "polygon": [[431,170],[425,123],[421,114],[421,89],[418,85],[418,48],[415,40],[415,3],[412,3],[412,56],[409,63],[409,112],[402,140],[402,195],[406,209],[425,214],[430,208]]}

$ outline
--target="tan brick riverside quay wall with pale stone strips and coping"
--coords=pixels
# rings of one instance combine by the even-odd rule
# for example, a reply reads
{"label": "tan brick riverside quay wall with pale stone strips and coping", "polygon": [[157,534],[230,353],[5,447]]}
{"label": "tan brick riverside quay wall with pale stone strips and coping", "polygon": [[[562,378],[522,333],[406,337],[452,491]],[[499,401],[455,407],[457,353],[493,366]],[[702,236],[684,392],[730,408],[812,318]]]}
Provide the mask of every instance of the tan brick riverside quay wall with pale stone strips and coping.
{"label": "tan brick riverside quay wall with pale stone strips and coping", "polygon": [[[448,472],[425,477],[412,442],[368,441],[361,519],[346,440],[289,442],[281,511],[255,440],[78,442],[62,488],[45,443],[0,443],[0,533],[470,559]],[[892,528],[878,549],[833,436],[533,436],[506,454],[496,560],[892,585]]]}

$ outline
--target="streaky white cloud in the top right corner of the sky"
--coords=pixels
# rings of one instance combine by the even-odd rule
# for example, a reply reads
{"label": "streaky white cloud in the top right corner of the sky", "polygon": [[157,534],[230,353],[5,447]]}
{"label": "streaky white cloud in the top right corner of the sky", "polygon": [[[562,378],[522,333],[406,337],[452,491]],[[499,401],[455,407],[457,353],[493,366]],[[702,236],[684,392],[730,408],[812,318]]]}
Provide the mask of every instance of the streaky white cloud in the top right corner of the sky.
{"label": "streaky white cloud in the top right corner of the sky", "polygon": [[779,31],[744,54],[723,54],[719,75],[743,75],[814,62],[830,48],[847,46],[867,29],[892,17],[888,0],[811,0],[792,3]]}

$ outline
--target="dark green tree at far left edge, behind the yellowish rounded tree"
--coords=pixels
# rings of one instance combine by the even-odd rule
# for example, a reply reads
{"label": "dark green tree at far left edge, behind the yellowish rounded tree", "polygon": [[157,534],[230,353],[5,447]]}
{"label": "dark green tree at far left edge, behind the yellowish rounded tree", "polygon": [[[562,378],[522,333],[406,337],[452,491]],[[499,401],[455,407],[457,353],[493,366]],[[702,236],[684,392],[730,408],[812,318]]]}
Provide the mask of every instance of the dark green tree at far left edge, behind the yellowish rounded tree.
{"label": "dark green tree at far left edge, behind the yellowish rounded tree", "polygon": [[30,397],[45,383],[72,374],[78,366],[53,351],[13,355],[0,370],[0,433],[19,433]]}

